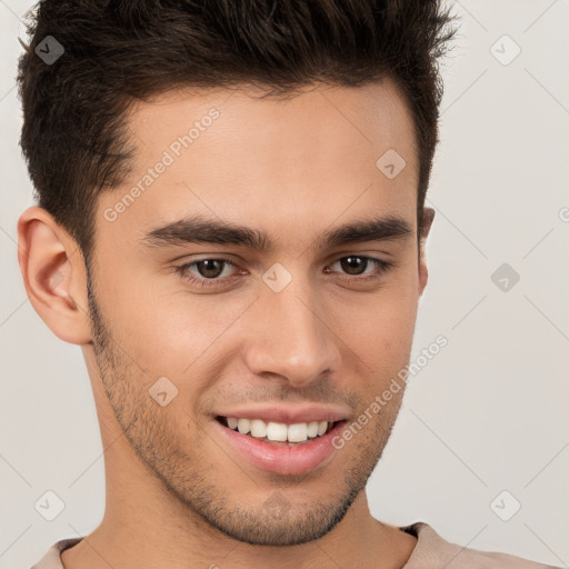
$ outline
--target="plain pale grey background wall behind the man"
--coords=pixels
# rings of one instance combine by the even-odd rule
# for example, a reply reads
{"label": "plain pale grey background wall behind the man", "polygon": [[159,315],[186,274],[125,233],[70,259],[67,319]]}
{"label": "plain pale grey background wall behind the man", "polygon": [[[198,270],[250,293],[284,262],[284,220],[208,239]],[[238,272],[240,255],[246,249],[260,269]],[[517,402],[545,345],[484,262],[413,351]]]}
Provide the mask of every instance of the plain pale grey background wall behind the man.
{"label": "plain pale grey background wall behind the man", "polygon": [[[34,312],[17,262],[16,222],[32,203],[13,80],[29,6],[0,0],[0,568],[30,567],[58,539],[90,532],[104,505],[80,348]],[[449,541],[567,567],[569,2],[453,7],[462,22],[442,69],[413,358],[439,335],[449,343],[409,385],[370,507],[390,523],[422,520]],[[502,274],[491,279],[502,263],[506,291]],[[34,509],[47,490],[64,501],[53,521]],[[503,521],[496,511],[508,517],[515,500]]]}

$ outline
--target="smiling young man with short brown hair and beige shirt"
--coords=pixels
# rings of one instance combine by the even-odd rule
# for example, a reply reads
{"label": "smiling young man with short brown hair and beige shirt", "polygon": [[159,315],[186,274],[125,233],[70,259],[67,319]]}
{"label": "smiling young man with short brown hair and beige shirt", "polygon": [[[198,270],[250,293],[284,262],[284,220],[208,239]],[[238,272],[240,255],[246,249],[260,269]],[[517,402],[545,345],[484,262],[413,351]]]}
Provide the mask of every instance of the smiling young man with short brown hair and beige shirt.
{"label": "smiling young man with short brown hair and beige shirt", "polygon": [[435,1],[39,4],[19,262],[83,351],[107,503],[36,568],[546,567],[365,493],[427,284],[449,23]]}

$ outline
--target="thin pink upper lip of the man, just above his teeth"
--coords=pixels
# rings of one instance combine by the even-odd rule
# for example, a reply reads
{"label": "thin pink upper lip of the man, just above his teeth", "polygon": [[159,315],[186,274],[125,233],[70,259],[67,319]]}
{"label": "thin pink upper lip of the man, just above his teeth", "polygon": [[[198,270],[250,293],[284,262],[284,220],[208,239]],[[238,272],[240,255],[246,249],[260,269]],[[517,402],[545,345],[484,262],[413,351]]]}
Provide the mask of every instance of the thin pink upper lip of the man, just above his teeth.
{"label": "thin pink upper lip of the man, just above his teeth", "polygon": [[338,407],[297,406],[297,407],[240,407],[222,410],[218,417],[234,417],[237,419],[262,419],[264,422],[284,422],[288,425],[310,421],[341,421],[348,413]]}

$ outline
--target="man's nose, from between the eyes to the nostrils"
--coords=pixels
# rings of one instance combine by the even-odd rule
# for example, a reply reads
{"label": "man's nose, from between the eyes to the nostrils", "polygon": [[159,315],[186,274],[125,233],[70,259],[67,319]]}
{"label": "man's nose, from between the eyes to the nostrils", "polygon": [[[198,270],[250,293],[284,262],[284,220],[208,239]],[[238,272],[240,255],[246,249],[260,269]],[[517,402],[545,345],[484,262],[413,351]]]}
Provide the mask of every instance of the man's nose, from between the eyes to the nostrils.
{"label": "man's nose, from between the eyes to the nostrils", "polygon": [[321,297],[306,279],[296,277],[280,292],[262,284],[249,311],[252,323],[244,350],[246,363],[258,376],[280,376],[296,388],[337,370],[340,352],[326,321]]}

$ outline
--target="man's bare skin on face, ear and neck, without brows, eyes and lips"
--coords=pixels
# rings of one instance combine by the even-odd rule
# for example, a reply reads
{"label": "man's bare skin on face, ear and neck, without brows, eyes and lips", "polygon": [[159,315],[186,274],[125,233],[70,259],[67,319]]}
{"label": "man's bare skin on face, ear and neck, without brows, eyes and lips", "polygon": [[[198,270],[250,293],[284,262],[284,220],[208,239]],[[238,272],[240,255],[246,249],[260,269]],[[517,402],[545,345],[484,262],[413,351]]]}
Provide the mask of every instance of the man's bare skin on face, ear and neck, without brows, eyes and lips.
{"label": "man's bare skin on face, ear and neck, without brows, eyes and lips", "polygon": [[[104,517],[63,552],[68,569],[400,569],[417,543],[371,517],[365,492],[405,389],[305,475],[258,469],[214,429],[216,410],[248,401],[335,405],[356,420],[409,361],[428,276],[412,122],[395,84],[257,94],[187,89],[132,108],[136,156],[124,183],[97,206],[90,298],[69,233],[40,208],[20,217],[27,292],[53,333],[81,346],[104,448]],[[212,107],[219,118],[108,221],[103,212]],[[407,161],[395,179],[376,167],[389,148]],[[142,243],[151,229],[196,213],[267,231],[274,250]],[[323,231],[386,214],[405,219],[411,234],[316,246]],[[423,239],[431,220],[427,210]],[[172,270],[220,256],[234,267],[221,267],[208,288]],[[393,267],[363,283],[342,264],[349,256]],[[276,262],[292,276],[280,292],[261,278]],[[362,264],[363,277],[378,272]],[[163,376],[178,395],[161,407],[149,389]],[[276,498],[282,516],[268,506]]]}

